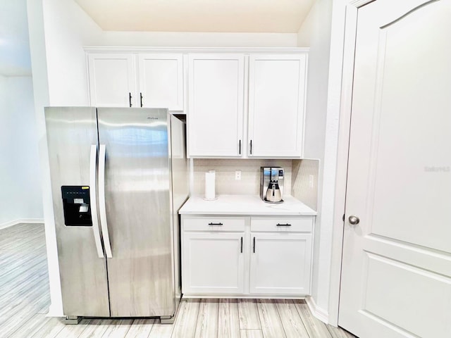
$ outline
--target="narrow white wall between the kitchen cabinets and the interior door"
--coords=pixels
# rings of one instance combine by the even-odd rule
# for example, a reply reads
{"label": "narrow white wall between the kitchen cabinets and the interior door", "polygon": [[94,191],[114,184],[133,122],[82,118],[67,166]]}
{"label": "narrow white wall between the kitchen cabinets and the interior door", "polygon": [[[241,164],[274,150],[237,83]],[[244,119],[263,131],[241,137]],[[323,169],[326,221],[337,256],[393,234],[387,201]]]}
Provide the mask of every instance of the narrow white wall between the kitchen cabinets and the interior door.
{"label": "narrow white wall between the kitchen cabinets and the interior door", "polygon": [[328,317],[330,279],[330,253],[332,223],[323,217],[325,173],[335,163],[326,161],[326,116],[328,112],[328,65],[330,55],[332,0],[317,0],[299,29],[298,46],[309,46],[309,70],[307,87],[307,114],[304,155],[319,158],[319,204],[314,242],[314,275],[312,298],[316,312],[323,319]]}

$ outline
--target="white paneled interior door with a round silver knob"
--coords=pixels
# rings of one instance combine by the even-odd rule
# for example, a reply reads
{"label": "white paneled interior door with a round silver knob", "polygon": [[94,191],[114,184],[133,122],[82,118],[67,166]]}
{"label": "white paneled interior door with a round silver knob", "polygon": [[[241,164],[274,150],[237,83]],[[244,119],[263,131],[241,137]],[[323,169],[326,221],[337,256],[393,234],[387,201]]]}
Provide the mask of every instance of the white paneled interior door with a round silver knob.
{"label": "white paneled interior door with a round silver knob", "polygon": [[451,337],[450,19],[358,11],[338,323],[361,338]]}

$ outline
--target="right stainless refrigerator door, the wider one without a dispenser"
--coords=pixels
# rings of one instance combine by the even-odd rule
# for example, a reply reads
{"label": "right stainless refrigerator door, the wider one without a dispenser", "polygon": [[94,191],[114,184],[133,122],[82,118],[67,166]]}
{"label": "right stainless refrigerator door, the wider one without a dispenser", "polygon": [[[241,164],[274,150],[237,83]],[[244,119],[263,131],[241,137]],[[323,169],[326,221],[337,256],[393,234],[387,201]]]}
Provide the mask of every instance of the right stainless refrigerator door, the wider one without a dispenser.
{"label": "right stainless refrigerator door, the wider one without a dispenser", "polygon": [[102,226],[111,243],[111,316],[173,315],[167,110],[97,108],[97,116],[99,144],[106,149],[99,176],[105,182]]}

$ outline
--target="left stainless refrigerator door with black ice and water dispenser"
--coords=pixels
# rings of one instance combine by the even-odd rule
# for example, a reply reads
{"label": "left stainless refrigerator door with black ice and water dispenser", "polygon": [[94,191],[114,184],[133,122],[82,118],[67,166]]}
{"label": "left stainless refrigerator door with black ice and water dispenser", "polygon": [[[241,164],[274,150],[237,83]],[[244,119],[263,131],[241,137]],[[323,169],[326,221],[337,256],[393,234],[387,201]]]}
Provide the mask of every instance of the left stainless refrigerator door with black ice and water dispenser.
{"label": "left stainless refrigerator door with black ice and water dispenser", "polygon": [[[97,221],[96,110],[51,107],[45,108],[45,117],[63,312],[108,317],[106,261],[99,258],[104,253],[99,232],[92,226]],[[85,219],[78,225],[74,213],[81,217],[88,211],[94,217],[92,223]]]}

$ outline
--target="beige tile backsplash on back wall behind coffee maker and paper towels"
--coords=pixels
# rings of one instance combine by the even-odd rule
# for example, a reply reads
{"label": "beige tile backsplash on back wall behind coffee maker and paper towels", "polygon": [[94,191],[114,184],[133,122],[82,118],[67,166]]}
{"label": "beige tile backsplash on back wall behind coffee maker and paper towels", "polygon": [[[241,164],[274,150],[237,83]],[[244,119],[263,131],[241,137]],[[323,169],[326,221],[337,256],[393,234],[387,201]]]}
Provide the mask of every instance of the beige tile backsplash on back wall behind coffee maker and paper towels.
{"label": "beige tile backsplash on back wall behind coffee maker and paper towels", "polygon": [[[292,194],[292,160],[194,158],[193,161],[194,194],[204,194],[208,170],[216,170],[216,194],[259,194],[260,167],[270,166],[285,169],[284,194]],[[241,170],[241,180],[235,180],[235,170]]]}

